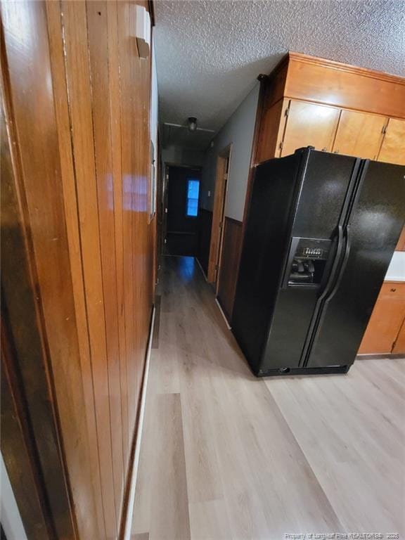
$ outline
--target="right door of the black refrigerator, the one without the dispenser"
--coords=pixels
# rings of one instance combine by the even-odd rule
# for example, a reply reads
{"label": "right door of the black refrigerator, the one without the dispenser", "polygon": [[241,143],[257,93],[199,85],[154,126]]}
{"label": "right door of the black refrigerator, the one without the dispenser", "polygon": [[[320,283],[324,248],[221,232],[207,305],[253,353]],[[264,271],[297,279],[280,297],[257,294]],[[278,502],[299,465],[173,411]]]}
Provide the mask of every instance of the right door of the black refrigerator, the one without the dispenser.
{"label": "right door of the black refrigerator, the one without the dispenser", "polygon": [[353,363],[405,219],[405,167],[370,162],[347,224],[346,258],[307,366]]}

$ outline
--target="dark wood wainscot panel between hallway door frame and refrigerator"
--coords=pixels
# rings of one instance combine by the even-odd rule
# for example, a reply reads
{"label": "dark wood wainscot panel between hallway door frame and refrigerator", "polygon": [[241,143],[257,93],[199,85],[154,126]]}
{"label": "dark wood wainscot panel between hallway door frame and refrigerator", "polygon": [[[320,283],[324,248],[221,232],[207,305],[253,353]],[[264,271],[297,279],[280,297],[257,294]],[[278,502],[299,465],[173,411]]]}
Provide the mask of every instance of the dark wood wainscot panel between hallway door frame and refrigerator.
{"label": "dark wood wainscot panel between hallway door frame and refrigerator", "polygon": [[225,217],[217,297],[228,321],[232,318],[241,243],[242,222]]}

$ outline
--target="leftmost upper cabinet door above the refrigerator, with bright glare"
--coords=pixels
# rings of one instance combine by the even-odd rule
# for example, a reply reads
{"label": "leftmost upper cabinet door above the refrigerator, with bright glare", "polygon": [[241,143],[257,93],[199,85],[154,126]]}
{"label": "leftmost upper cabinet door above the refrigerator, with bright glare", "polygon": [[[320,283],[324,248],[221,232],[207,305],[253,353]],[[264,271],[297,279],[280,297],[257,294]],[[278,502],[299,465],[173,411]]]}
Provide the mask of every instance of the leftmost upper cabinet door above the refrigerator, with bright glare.
{"label": "leftmost upper cabinet door above the refrigerator, with bright glare", "polygon": [[303,146],[330,152],[338,127],[340,109],[304,101],[290,102],[283,139],[283,155],[290,155]]}

